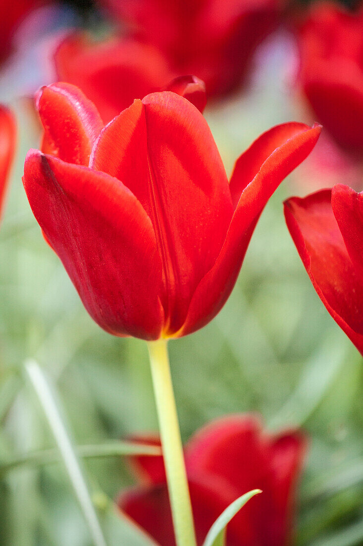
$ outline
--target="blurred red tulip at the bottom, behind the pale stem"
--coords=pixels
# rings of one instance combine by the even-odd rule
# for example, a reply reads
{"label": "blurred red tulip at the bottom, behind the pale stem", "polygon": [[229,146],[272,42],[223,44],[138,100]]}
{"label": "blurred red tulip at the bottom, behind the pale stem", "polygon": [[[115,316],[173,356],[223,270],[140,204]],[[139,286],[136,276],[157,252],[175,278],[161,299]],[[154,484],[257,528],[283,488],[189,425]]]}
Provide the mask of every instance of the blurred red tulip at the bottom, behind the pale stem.
{"label": "blurred red tulip at the bottom, behind the pale stem", "polygon": [[[147,438],[148,439],[148,438]],[[153,442],[155,443],[155,442]],[[235,415],[199,430],[185,446],[197,542],[237,497],[260,488],[227,527],[226,546],[283,546],[292,532],[294,493],[306,442],[299,431],[269,435],[259,419]],[[118,505],[160,546],[173,546],[173,525],[162,458],[132,461],[141,484]]]}

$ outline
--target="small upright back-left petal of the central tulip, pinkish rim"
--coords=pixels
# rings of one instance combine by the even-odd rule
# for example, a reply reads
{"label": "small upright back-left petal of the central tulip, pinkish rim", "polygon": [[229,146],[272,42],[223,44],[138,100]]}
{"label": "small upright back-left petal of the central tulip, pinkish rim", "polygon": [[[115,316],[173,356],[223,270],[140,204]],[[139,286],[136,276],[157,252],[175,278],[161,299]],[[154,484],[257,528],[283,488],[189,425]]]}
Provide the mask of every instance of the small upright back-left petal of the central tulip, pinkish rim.
{"label": "small upright back-left petal of the central tulip, pinkish rim", "polygon": [[52,84],[36,96],[44,127],[42,151],[68,163],[88,165],[103,123],[94,104],[74,85]]}

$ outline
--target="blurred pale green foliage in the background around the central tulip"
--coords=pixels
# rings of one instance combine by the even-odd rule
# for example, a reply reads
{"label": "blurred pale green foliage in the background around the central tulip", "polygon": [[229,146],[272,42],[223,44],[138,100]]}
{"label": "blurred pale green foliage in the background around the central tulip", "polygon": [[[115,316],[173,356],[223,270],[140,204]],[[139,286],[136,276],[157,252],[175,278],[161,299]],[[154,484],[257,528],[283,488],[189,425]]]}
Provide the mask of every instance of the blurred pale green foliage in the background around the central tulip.
{"label": "blurred pale green foliage in the background around the central tulip", "polygon": [[[43,367],[74,443],[94,444],[157,429],[147,348],[92,322],[45,244],[21,185],[23,159],[38,146],[39,128],[28,103],[14,108],[20,147],[0,229],[0,544],[89,546],[62,464],[1,474],[5,462],[54,447],[23,363],[32,357]],[[262,130],[308,121],[282,95],[274,69],[253,93],[210,108],[206,117],[228,172]],[[301,173],[300,167],[263,212],[219,316],[170,343],[172,375],[184,440],[231,412],[260,412],[270,430],[306,430],[296,544],[357,546],[363,544],[362,359],[320,302],[283,219],[283,199],[314,189],[312,180],[302,185]],[[83,465],[99,508],[132,484],[121,456]],[[121,539],[110,518],[113,546]]]}

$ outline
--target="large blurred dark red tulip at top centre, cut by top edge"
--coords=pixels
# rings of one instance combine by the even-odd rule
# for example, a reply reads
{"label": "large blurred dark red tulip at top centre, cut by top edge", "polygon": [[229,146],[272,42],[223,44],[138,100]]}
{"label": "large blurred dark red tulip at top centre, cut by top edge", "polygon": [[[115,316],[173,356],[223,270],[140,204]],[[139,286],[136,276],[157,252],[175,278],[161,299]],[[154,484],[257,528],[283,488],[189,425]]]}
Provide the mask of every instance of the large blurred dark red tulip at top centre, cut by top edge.
{"label": "large blurred dark red tulip at top centre, cut by top edge", "polygon": [[281,0],[100,0],[132,34],[156,46],[178,75],[195,74],[208,96],[234,91],[272,32]]}

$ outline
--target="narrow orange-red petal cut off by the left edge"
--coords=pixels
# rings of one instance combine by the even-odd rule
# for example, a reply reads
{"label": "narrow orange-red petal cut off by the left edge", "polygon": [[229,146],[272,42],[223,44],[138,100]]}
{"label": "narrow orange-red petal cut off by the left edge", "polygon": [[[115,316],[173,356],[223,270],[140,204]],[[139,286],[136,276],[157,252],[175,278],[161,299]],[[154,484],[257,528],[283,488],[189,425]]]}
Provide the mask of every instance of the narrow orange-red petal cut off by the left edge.
{"label": "narrow orange-red petal cut off by the left edge", "polygon": [[0,105],[0,213],[9,180],[9,171],[14,159],[16,124],[13,114]]}

